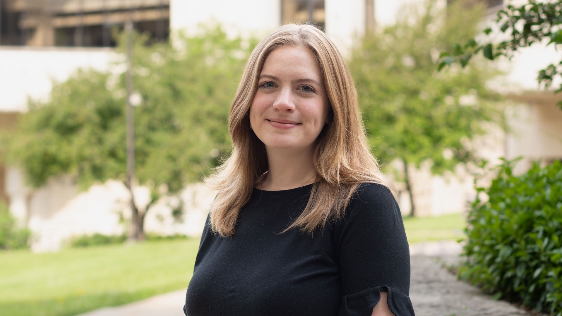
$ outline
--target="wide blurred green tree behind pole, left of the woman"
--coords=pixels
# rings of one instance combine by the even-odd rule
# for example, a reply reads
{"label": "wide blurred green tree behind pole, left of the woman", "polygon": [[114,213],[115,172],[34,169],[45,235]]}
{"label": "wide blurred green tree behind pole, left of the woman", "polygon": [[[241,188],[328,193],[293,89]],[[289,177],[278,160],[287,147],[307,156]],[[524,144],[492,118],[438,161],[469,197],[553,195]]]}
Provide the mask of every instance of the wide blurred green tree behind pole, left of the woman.
{"label": "wide blurred green tree behind pole, left of the woman", "polygon": [[[121,35],[118,52],[124,42]],[[219,26],[173,44],[149,46],[135,35],[133,183],[148,186],[151,199],[143,209],[135,205],[134,239],[144,239],[153,203],[200,179],[228,152],[228,112],[253,44],[227,38]],[[79,70],[54,85],[50,101],[30,102],[7,157],[34,187],[60,174],[73,175],[83,189],[108,179],[126,185],[125,134],[125,75]]]}

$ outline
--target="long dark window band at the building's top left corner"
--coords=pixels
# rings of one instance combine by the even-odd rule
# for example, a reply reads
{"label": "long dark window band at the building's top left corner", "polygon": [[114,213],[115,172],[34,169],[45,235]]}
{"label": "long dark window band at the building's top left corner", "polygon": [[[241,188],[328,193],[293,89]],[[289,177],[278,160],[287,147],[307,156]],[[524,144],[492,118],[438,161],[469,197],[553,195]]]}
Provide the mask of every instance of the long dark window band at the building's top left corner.
{"label": "long dark window band at the building's top left corner", "polygon": [[0,44],[115,46],[111,29],[123,29],[130,17],[135,30],[148,34],[151,42],[163,41],[170,33],[169,3],[170,0],[0,0]]}

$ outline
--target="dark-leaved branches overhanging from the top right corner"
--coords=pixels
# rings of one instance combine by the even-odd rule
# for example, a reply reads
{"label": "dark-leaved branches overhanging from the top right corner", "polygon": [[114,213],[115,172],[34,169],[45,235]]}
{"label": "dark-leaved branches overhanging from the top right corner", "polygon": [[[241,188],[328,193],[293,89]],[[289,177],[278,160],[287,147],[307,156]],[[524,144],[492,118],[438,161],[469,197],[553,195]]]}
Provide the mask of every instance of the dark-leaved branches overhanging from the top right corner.
{"label": "dark-leaved branches overhanging from the top right corner", "polygon": [[[546,43],[546,46],[558,48],[562,44],[562,0],[537,2],[529,0],[528,3],[516,7],[508,4],[505,10],[497,13],[495,25],[483,30],[483,35],[487,38],[497,33],[493,29],[498,29],[501,33],[509,36],[509,39],[499,43],[493,43],[491,39],[484,40],[478,44],[474,38],[466,40],[464,45],[455,44],[452,53],[443,52],[439,62],[439,69],[453,62],[459,62],[463,67],[468,64],[470,58],[478,52],[489,60],[496,60],[500,56],[505,56],[511,60],[515,52],[523,47],[530,47],[533,44]],[[550,64],[545,69],[538,72],[537,81],[545,89],[552,85],[556,77],[562,78],[562,56],[560,61]],[[562,91],[562,83],[555,93]],[[558,102],[562,109],[562,101]]]}

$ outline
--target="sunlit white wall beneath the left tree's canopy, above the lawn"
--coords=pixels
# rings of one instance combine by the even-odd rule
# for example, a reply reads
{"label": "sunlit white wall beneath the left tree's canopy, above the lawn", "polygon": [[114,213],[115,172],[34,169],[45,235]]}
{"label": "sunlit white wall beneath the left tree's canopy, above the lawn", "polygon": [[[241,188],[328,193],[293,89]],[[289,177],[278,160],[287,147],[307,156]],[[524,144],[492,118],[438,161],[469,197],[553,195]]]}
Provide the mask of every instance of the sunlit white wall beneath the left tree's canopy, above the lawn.
{"label": "sunlit white wall beneath the left tree's canopy, above the lawn", "polygon": [[[135,189],[135,200],[140,202],[139,205],[147,195],[146,188]],[[162,198],[146,215],[144,231],[200,237],[215,195],[215,191],[201,183],[187,186],[180,193],[184,215],[178,222],[171,215],[169,206],[174,201]],[[125,233],[129,220],[129,192],[123,183],[109,180],[78,192],[70,179],[52,179],[37,189],[30,199],[28,227],[34,237],[31,249],[56,251],[76,235]]]}

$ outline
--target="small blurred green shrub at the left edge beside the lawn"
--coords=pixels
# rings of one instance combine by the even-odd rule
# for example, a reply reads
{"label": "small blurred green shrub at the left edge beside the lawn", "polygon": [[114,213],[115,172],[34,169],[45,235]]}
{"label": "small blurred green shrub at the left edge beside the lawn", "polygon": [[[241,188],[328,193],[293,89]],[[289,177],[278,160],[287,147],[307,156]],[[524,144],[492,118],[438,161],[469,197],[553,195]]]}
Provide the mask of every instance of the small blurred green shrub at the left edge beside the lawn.
{"label": "small blurred green shrub at the left edge beside the lawn", "polygon": [[31,231],[17,227],[8,206],[0,202],[0,249],[27,249]]}

